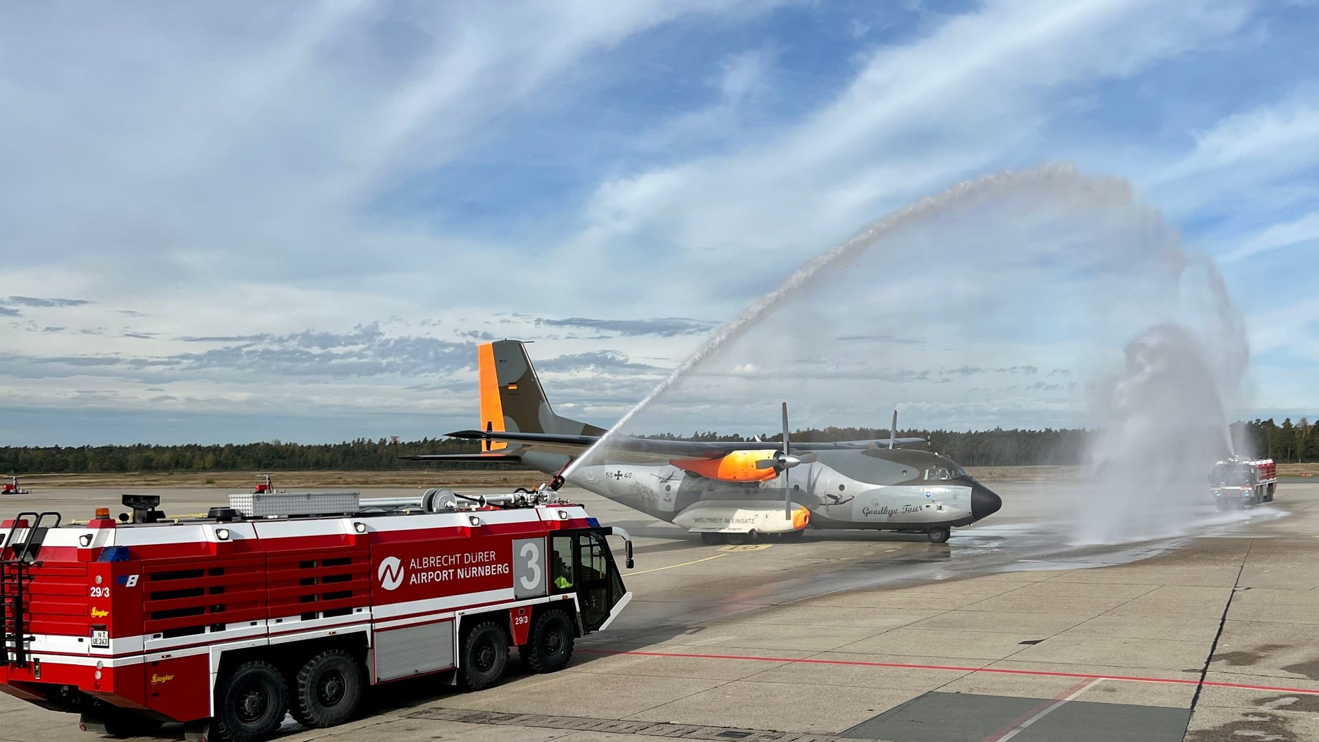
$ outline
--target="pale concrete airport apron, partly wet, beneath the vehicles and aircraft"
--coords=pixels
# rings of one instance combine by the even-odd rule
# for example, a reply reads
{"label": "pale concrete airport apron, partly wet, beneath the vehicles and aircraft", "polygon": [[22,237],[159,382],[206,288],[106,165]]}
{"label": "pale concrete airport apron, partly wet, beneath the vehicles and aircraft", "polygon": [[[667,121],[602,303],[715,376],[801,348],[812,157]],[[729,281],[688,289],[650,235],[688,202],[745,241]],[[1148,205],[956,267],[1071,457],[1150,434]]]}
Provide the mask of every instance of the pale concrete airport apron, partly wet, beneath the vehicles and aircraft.
{"label": "pale concrete airport apron, partly wet, beneath the vehicles and aircraft", "polygon": [[[571,491],[632,532],[637,564],[632,605],[566,671],[514,669],[480,693],[393,685],[359,721],[290,721],[281,739],[1319,741],[1319,483],[1120,545],[1072,544],[1059,486],[995,490],[1002,511],[947,544],[811,532],[725,547]],[[119,492],[4,504],[87,518]],[[152,492],[170,515],[227,494]],[[0,698],[0,739],[38,738],[88,735]]]}

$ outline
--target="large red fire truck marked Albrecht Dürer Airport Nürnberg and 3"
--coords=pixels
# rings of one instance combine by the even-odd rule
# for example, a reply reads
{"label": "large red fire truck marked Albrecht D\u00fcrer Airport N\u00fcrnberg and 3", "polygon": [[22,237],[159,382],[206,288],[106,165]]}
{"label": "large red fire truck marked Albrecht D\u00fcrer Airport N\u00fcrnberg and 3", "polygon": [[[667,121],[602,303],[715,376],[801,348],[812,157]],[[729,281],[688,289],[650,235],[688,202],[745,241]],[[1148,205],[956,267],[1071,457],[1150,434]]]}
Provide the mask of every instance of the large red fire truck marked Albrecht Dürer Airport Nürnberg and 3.
{"label": "large red fire truck marked Albrecht D\u00fcrer Airport N\u00fcrnberg and 3", "polygon": [[574,639],[632,598],[601,527],[547,489],[417,500],[249,492],[165,520],[124,495],[119,519],[4,520],[0,691],[78,713],[86,730],[253,742],[285,717],[332,726],[365,685],[427,673],[483,689],[517,647],[563,668]]}

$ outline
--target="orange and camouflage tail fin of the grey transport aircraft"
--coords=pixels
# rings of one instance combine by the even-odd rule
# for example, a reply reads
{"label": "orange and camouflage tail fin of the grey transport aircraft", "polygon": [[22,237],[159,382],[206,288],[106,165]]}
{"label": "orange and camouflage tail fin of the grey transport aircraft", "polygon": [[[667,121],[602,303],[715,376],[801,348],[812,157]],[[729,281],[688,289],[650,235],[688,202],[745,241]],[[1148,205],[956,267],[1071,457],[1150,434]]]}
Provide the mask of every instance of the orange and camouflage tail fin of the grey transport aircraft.
{"label": "orange and camouflage tail fin of the grey transport aircraft", "polygon": [[[521,341],[496,341],[477,350],[481,429],[521,433],[603,436],[604,429],[554,415]],[[506,448],[485,441],[485,450]]]}

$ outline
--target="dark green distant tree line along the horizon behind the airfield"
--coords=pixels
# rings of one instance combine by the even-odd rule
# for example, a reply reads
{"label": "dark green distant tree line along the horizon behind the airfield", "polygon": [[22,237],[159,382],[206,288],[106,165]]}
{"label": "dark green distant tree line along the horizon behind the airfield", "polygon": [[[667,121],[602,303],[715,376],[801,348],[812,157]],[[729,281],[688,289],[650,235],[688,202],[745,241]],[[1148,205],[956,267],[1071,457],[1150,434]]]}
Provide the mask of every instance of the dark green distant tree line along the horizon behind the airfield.
{"label": "dark green distant tree line along the horizon behind the airfield", "polygon": [[[1249,453],[1279,462],[1319,461],[1319,422],[1306,419],[1282,424],[1254,420],[1232,425],[1235,440],[1245,441]],[[1084,429],[1042,430],[901,430],[898,437],[929,441],[930,450],[951,457],[964,466],[1078,465],[1086,461],[1091,436]],[[749,441],[752,438],[716,432],[691,436],[662,434],[654,438],[695,441]],[[806,428],[791,433],[794,441],[884,440],[878,428]],[[766,442],[781,436],[762,437]],[[516,465],[488,462],[409,462],[400,457],[427,453],[476,453],[476,441],[422,438],[392,441],[357,438],[339,444],[259,444],[177,445],[137,444],[129,446],[4,446],[0,448],[0,474],[108,474],[116,471],[309,471],[309,470],[397,470],[408,466],[431,469],[516,469]]]}

